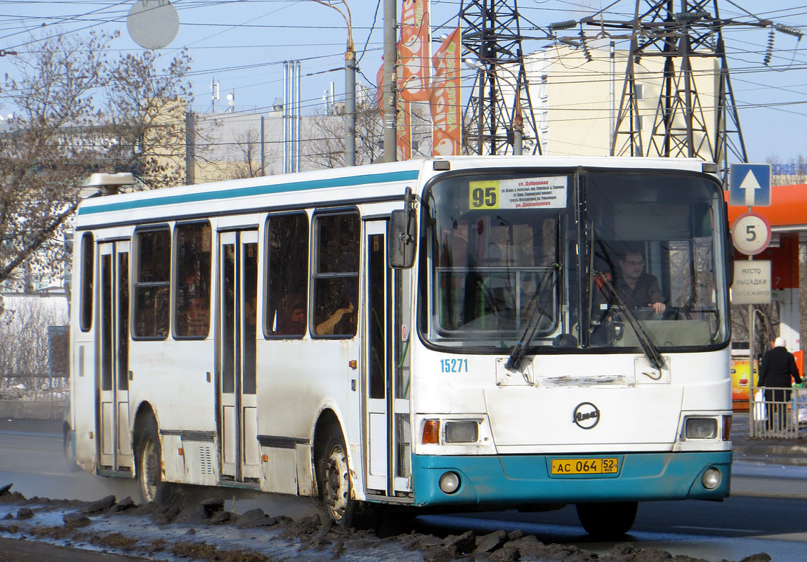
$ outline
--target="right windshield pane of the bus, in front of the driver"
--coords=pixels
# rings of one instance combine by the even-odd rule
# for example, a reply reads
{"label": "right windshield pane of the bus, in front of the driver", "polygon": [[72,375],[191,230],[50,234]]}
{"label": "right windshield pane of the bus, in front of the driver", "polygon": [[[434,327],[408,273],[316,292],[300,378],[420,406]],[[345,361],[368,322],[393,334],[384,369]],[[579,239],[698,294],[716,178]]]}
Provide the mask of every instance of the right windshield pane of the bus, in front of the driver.
{"label": "right windshield pane of the bus, in front of the driver", "polygon": [[637,323],[662,349],[725,342],[717,184],[671,173],[592,173],[585,189],[591,346],[636,347]]}

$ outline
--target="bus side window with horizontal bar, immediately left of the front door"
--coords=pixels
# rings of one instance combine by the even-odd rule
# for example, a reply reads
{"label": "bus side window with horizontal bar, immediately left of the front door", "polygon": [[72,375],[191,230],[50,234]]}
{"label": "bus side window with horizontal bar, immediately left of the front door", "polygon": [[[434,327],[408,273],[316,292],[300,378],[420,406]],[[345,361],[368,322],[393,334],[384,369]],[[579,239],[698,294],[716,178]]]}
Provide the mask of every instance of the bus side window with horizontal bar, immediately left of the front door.
{"label": "bus side window with horizontal bar, immediately left of the front door", "polygon": [[353,338],[358,308],[360,221],[357,212],[320,215],[315,222],[314,332]]}

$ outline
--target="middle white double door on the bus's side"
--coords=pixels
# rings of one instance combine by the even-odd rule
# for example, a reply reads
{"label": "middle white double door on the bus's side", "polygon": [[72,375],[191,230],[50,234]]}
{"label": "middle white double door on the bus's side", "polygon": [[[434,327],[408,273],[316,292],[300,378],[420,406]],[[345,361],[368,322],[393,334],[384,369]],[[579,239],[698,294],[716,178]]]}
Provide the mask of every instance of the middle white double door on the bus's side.
{"label": "middle white double door on the bus's side", "polygon": [[257,482],[257,230],[220,233],[219,251],[221,474]]}

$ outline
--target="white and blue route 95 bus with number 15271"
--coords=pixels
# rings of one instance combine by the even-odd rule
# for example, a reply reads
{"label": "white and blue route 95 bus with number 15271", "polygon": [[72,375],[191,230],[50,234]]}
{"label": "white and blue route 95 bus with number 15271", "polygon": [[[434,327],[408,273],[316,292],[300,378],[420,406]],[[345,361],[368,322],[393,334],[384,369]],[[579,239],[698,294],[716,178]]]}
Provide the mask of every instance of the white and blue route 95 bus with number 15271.
{"label": "white and blue route 95 bus with number 15271", "polygon": [[87,199],[77,463],[366,506],[729,494],[717,166],[448,157]]}

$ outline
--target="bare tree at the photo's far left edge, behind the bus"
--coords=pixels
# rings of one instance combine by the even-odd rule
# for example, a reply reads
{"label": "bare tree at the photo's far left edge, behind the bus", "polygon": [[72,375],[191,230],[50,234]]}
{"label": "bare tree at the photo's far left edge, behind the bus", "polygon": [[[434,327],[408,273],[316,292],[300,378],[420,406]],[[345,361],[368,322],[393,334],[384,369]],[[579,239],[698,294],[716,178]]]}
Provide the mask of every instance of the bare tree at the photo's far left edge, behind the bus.
{"label": "bare tree at the photo's far left edge, behind the bus", "polygon": [[0,134],[0,282],[36,249],[44,266],[59,249],[54,233],[77,206],[82,179],[98,159],[82,131],[100,119],[93,92],[102,81],[110,36],[56,36],[12,59],[5,94],[16,108]]}

